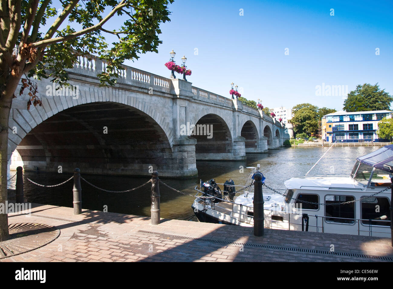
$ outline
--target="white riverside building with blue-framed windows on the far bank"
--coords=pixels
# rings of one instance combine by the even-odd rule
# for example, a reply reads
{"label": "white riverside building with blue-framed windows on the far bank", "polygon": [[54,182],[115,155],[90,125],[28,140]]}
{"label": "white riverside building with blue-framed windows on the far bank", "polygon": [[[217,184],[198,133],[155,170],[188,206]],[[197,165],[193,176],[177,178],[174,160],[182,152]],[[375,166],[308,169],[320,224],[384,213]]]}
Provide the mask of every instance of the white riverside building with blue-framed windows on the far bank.
{"label": "white riverside building with blue-framed windows on the far bank", "polygon": [[387,142],[376,134],[382,118],[392,118],[390,110],[337,111],[322,117],[322,135],[326,142]]}

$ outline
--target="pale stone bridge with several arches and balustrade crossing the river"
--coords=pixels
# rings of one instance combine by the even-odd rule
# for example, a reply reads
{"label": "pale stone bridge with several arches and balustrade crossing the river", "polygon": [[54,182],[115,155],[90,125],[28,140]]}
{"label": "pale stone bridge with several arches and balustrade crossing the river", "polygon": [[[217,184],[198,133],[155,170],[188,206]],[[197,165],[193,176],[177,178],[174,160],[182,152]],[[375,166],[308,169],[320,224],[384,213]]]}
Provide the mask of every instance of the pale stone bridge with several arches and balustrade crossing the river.
{"label": "pale stone bridge with several arches and balustrade crossing the river", "polygon": [[96,75],[105,70],[102,61],[80,57],[69,70],[74,89],[56,90],[44,79],[42,107],[27,110],[27,94],[13,99],[8,160],[17,149],[25,170],[150,175],[152,168],[191,177],[196,160],[243,160],[289,138],[261,110],[188,81],[125,66],[116,86],[100,87]]}

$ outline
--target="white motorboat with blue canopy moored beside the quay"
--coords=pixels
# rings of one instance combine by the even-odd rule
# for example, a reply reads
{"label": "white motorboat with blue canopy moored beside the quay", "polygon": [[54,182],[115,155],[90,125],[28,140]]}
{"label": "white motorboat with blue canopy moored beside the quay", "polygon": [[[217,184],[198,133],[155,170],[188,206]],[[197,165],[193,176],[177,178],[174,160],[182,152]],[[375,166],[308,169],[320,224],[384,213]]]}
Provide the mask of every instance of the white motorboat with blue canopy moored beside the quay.
{"label": "white motorboat with blue canopy moored beside the quay", "polygon": [[[318,163],[318,162],[317,162]],[[315,166],[315,165],[314,165]],[[253,176],[244,186],[212,179],[195,187],[199,221],[253,226]],[[390,237],[393,145],[358,157],[349,176],[296,177],[263,186],[265,228]],[[263,178],[264,181],[264,178]],[[219,186],[224,186],[220,190]],[[236,188],[236,190],[235,190]]]}

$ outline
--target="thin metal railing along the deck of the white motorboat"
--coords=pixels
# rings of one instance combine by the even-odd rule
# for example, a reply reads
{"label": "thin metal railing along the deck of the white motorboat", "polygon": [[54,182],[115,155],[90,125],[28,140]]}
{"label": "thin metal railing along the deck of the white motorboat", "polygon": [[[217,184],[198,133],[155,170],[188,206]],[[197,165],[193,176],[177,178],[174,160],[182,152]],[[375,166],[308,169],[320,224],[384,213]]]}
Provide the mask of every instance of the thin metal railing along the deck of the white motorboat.
{"label": "thin metal railing along the deck of the white motorboat", "polygon": [[[237,203],[232,202],[232,201],[229,201],[229,200],[227,200],[227,199],[221,199],[221,198],[218,198],[218,197],[216,197],[216,196],[209,195],[208,193],[204,193],[204,192],[198,190],[198,186],[195,187],[195,190],[197,191],[196,194],[195,194],[196,199],[199,199],[199,200],[205,202],[206,204],[205,204],[204,206],[210,206],[210,208],[208,208],[208,209],[211,209],[211,210],[214,210],[214,211],[216,211],[216,212],[219,212],[219,211],[215,210],[215,208],[220,208],[220,209],[224,210],[224,212],[219,212],[219,213],[220,213],[220,214],[223,214],[223,215],[226,215],[226,216],[228,216],[228,217],[233,217],[233,213],[239,214],[239,215],[242,215],[242,216],[245,216],[245,217],[250,217],[250,218],[253,217],[252,215],[247,214],[247,210],[246,210],[244,213],[242,213],[242,207],[250,208],[250,209],[252,209],[252,212],[253,212],[253,206],[247,206],[247,205],[243,205],[243,204],[237,204]],[[202,194],[204,194],[205,196],[208,196],[208,197],[209,197],[208,200],[206,199],[206,197],[200,196],[199,193],[202,193]],[[218,204],[219,204],[220,202],[218,202],[217,204],[215,204],[215,202],[214,202],[215,199],[218,199],[218,200],[220,200],[221,202],[227,202],[227,203],[232,204],[232,210],[229,210],[228,208],[224,208],[223,206],[219,206]],[[207,202],[207,201],[209,201],[209,202]],[[235,206],[235,205],[236,205],[236,206],[240,206],[240,212],[235,212],[235,210],[234,210],[234,206]],[[270,212],[270,214],[274,214],[274,213],[276,213],[276,214],[283,214],[283,213],[284,213],[284,214],[288,214],[288,230],[291,230],[291,225],[297,225],[297,226],[301,226],[301,225],[302,225],[302,223],[296,223],[296,222],[291,221],[291,216],[292,216],[292,219],[294,218],[295,215],[298,215],[298,216],[303,217],[303,216],[304,216],[303,213],[286,212],[286,211],[279,211],[279,210],[274,210],[274,209],[270,209],[270,210],[268,210],[268,209],[263,209],[263,210],[264,210],[264,211],[267,211],[267,212]],[[228,212],[228,214],[226,214],[225,212]],[[232,213],[232,215],[230,215],[229,213]],[[351,218],[330,217],[330,216],[320,216],[320,215],[310,215],[310,214],[307,214],[307,215],[309,216],[309,218],[310,218],[310,217],[315,217],[315,218],[316,218],[316,225],[310,225],[310,224],[309,224],[309,227],[314,227],[314,228],[316,228],[316,232],[320,232],[320,230],[321,230],[322,233],[325,232],[325,225],[324,225],[325,222],[327,222],[327,223],[329,223],[329,224],[337,223],[338,225],[340,225],[340,224],[352,225],[352,224],[355,224],[355,221],[356,221],[356,222],[358,223],[358,228],[357,228],[358,235],[360,235],[360,232],[368,232],[368,233],[369,233],[369,236],[373,236],[373,233],[391,234],[390,230],[388,230],[388,232],[375,231],[375,230],[373,231],[373,227],[374,227],[375,229],[376,229],[376,228],[384,228],[384,227],[388,227],[388,228],[389,228],[389,224],[387,224],[386,226],[385,226],[385,225],[373,225],[372,222],[390,223],[389,220],[351,219]],[[326,218],[329,218],[329,221],[326,221]],[[283,221],[274,220],[274,219],[271,219],[271,218],[270,218],[270,219],[264,218],[264,219],[267,220],[267,221],[270,221],[270,228],[273,228],[273,223],[283,223]],[[319,223],[318,220],[319,220],[319,219],[321,220],[321,222],[320,222],[321,225],[318,225],[318,223]],[[337,220],[337,221],[336,221],[336,222],[334,222],[334,221],[330,222],[331,219],[335,219],[335,220]],[[284,218],[283,218],[283,220],[284,220]],[[301,220],[303,221],[302,218],[301,218]],[[343,220],[343,221],[340,222],[340,220]],[[251,220],[250,220],[250,221],[251,221]],[[348,223],[348,221],[351,222],[351,223]],[[369,224],[364,224],[364,223],[362,223],[362,225],[368,226],[368,230],[361,230],[361,229],[360,229],[360,222],[361,222],[361,221],[369,222]],[[309,223],[310,223],[310,222],[309,222]]]}

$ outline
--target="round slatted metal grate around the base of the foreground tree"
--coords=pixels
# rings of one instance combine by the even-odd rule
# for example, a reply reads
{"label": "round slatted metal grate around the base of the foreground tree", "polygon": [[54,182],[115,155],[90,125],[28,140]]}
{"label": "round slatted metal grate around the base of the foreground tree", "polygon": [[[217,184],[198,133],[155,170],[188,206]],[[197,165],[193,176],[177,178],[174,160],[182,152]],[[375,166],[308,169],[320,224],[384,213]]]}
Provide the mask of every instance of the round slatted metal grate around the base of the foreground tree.
{"label": "round slatted metal grate around the base of the foreground tree", "polygon": [[0,242],[0,259],[38,249],[56,239],[59,234],[59,229],[44,224],[11,224],[10,239]]}

